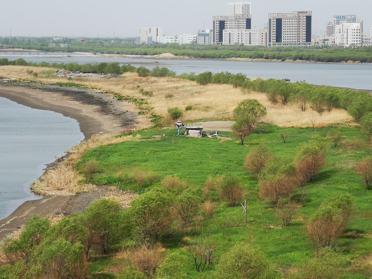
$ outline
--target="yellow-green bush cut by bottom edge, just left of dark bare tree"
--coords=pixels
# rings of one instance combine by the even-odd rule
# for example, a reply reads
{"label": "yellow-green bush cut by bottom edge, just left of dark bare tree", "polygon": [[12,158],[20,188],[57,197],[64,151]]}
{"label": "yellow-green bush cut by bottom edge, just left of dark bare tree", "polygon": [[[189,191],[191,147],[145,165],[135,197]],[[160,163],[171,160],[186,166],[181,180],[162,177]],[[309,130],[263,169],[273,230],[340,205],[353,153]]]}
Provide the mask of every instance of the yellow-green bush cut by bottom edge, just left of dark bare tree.
{"label": "yellow-green bush cut by bottom edge, just left of dark bare tree", "polygon": [[179,250],[171,252],[163,263],[156,269],[154,279],[183,279],[186,274],[182,272],[183,263],[187,257]]}

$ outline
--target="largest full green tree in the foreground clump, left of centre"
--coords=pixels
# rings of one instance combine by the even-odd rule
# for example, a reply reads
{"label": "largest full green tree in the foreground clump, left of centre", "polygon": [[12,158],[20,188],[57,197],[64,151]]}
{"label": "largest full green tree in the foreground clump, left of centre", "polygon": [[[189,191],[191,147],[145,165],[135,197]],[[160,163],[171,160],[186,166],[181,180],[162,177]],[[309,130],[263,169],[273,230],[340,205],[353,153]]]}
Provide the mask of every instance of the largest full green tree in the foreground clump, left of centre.
{"label": "largest full green tree in the foreground clump, left of centre", "polygon": [[131,202],[127,210],[133,223],[133,235],[140,243],[156,242],[171,225],[173,194],[157,187]]}

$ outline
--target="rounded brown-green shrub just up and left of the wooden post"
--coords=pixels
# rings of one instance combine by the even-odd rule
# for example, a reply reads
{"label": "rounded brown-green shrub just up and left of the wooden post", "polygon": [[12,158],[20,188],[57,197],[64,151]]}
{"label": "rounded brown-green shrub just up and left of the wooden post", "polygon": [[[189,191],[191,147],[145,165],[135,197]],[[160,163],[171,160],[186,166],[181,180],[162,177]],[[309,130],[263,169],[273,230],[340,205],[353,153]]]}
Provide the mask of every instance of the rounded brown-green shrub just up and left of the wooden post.
{"label": "rounded brown-green shrub just up and left of the wooden post", "polygon": [[222,201],[225,201],[229,206],[237,206],[243,199],[243,187],[241,182],[232,173],[227,173],[223,176],[222,183],[218,188],[218,196]]}

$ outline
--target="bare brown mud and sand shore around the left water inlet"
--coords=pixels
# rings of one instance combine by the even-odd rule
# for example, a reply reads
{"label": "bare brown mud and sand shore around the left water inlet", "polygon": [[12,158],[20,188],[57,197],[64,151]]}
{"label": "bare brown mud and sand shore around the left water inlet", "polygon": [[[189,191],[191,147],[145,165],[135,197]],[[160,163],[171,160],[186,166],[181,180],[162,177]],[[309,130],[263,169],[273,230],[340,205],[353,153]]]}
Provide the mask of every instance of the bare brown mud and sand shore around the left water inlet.
{"label": "bare brown mud and sand shore around the left water inlet", "polygon": [[[52,110],[77,119],[85,140],[98,132],[120,134],[137,123],[138,115],[128,111],[131,108],[129,103],[90,90],[30,83],[0,84],[0,97],[31,108]],[[54,166],[57,165],[51,163],[47,168]],[[90,193],[75,196],[49,195],[39,200],[24,202],[12,214],[0,220],[0,240],[23,228],[25,222],[34,214],[48,217],[55,213],[66,215],[80,212],[89,206],[90,202],[107,192],[104,187],[97,187]]]}

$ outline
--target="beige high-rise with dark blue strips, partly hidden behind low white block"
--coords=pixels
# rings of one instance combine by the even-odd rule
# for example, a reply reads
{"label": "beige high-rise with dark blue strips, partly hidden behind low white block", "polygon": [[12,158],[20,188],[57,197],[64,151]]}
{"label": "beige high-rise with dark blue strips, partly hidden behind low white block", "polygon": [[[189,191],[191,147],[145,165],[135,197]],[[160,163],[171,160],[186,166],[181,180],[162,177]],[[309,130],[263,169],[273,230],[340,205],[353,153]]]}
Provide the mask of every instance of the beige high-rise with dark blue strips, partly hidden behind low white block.
{"label": "beige high-rise with dark blue strips, partly hidden behind low white block", "polygon": [[225,29],[251,29],[251,15],[214,16],[213,43],[223,43]]}

